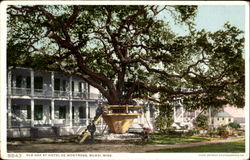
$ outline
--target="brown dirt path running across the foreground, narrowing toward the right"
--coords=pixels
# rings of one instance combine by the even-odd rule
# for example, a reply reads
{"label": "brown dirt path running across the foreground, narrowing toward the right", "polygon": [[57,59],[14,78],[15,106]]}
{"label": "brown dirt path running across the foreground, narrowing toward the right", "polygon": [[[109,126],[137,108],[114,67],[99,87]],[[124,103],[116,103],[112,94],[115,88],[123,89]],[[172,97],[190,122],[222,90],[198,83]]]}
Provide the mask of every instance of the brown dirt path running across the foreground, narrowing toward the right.
{"label": "brown dirt path running across the foreground, narrowing toward the right", "polygon": [[105,153],[142,153],[146,151],[168,149],[168,148],[184,148],[207,145],[212,143],[225,143],[244,140],[240,139],[225,139],[204,141],[187,144],[169,144],[169,145],[134,145],[134,144],[76,144],[76,143],[56,143],[56,144],[9,144],[8,152],[36,152],[36,153],[51,153],[51,152],[105,152]]}

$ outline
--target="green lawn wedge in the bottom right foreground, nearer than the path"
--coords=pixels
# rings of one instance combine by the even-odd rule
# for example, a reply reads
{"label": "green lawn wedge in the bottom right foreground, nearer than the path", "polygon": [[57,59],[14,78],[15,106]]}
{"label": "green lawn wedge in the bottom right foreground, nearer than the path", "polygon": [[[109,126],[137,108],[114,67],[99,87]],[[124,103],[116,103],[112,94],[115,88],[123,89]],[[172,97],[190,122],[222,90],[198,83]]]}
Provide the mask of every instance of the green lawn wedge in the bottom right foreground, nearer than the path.
{"label": "green lawn wedge in the bottom right foreground, nearer than the path", "polygon": [[154,150],[150,152],[173,153],[173,152],[217,152],[217,153],[241,153],[245,152],[245,141],[208,144],[204,146],[188,147],[188,148],[173,148]]}

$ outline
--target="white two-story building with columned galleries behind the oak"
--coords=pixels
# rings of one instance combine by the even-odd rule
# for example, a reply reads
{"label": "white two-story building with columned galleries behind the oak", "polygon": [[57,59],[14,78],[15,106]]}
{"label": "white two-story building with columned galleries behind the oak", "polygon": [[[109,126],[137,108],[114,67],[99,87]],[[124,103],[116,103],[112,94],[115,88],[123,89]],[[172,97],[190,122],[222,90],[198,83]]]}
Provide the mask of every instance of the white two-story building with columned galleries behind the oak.
{"label": "white two-story building with columned galleries behind the oak", "polygon": [[[79,77],[59,72],[17,67],[8,70],[7,79],[8,137],[78,135],[94,118],[98,103],[106,101]],[[147,109],[132,127],[152,128],[151,118]],[[105,122],[97,127],[104,129]]]}

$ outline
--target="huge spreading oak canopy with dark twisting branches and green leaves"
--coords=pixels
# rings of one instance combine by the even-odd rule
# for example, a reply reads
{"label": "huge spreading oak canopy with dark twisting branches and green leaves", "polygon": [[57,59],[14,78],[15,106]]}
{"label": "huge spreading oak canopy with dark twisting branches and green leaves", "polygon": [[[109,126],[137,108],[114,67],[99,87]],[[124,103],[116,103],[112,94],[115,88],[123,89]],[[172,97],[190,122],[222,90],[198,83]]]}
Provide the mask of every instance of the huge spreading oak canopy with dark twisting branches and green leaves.
{"label": "huge spreading oak canopy with dark twisting branches and green leaves", "polygon": [[[176,35],[162,13],[189,33]],[[244,107],[243,32],[228,23],[196,30],[196,13],[197,6],[173,5],[8,6],[8,65],[77,75],[109,104]]]}

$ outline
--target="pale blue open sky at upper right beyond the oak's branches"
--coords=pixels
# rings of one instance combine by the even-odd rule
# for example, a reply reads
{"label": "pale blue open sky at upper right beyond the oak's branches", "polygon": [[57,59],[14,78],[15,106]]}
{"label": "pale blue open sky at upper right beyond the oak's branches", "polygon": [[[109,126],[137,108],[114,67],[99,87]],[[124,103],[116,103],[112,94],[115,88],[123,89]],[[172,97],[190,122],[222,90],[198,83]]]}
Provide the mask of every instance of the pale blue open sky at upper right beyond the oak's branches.
{"label": "pale blue open sky at upper right beyond the oak's branches", "polygon": [[[198,30],[217,31],[229,22],[241,30],[245,30],[245,6],[243,5],[199,5],[195,24]],[[178,35],[185,35],[187,28],[170,25]]]}

